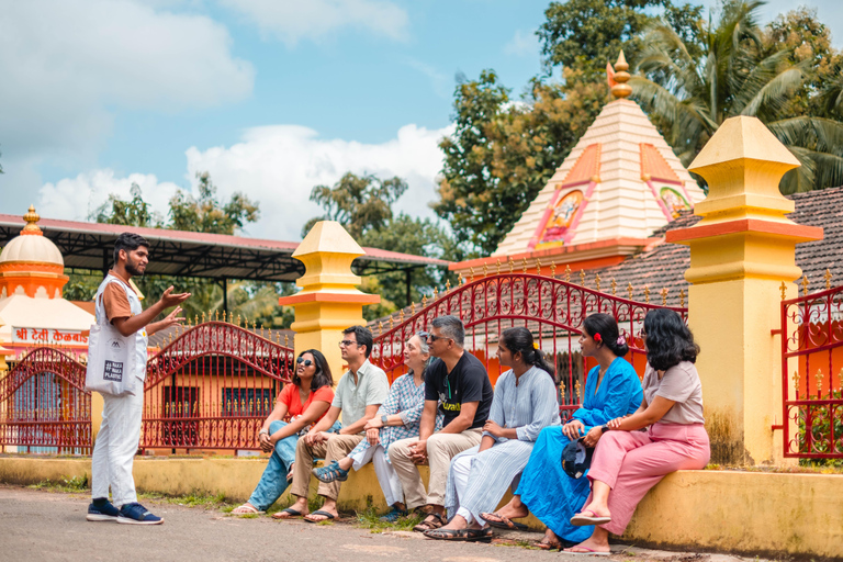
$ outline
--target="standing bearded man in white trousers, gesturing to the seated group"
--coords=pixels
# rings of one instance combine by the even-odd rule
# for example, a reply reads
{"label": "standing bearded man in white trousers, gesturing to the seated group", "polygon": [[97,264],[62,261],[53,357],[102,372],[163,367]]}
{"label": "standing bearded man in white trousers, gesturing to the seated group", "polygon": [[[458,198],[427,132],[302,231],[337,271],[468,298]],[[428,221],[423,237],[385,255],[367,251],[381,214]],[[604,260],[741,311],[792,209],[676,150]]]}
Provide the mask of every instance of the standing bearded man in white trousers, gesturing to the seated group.
{"label": "standing bearded man in white trousers, gesturing to the seated group", "polygon": [[[97,290],[97,323],[111,323],[123,337],[134,336],[135,360],[130,364],[128,376],[136,376],[135,394],[113,396],[103,394],[102,425],[97,435],[91,460],[91,505],[89,521],[113,521],[134,525],[159,525],[164,519],[150,514],[137,503],[132,464],[140,440],[140,415],[144,406],[144,379],[146,379],[147,334],[172,326],[190,293],[172,294],[172,286],[161,300],[146,311],[128,281],[143,276],[149,262],[149,244],[143,236],[123,233],[114,244],[114,269],[109,271]],[[165,310],[176,306],[160,322],[153,322]],[[109,502],[111,486],[114,504]],[[117,507],[115,507],[117,506]]]}

